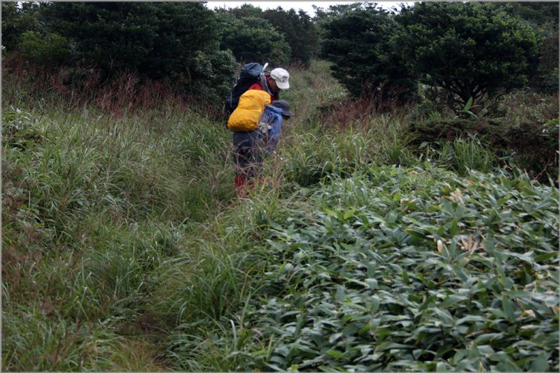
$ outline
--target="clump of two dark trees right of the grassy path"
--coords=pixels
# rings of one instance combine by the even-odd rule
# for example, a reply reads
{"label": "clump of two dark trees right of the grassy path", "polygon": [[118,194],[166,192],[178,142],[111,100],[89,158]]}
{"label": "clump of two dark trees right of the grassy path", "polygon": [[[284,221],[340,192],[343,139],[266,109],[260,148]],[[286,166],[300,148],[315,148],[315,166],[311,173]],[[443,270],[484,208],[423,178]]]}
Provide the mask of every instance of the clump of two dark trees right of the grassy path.
{"label": "clump of two dark trees right of the grassy path", "polygon": [[[549,11],[546,3],[534,6]],[[332,7],[318,15],[321,55],[355,97],[381,91],[386,100],[406,101],[423,83],[446,92],[447,104],[457,108],[530,79],[533,87],[557,92],[558,64],[549,64],[558,55],[551,44],[557,18],[524,10],[533,9],[476,2],[419,2],[398,14],[376,3]],[[539,66],[548,66],[547,73]]]}

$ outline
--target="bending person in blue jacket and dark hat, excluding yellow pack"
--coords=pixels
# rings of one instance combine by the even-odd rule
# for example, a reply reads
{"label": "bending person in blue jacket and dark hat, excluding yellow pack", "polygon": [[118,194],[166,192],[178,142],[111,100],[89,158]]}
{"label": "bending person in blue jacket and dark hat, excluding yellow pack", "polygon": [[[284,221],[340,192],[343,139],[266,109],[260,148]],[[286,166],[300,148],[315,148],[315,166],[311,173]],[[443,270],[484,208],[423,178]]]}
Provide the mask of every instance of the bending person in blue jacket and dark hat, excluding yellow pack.
{"label": "bending person in blue jacket and dark hat, excluding yellow pack", "polygon": [[[251,92],[248,95],[255,93]],[[246,98],[243,95],[241,97],[239,107],[243,107]],[[255,179],[262,173],[263,158],[276,150],[283,120],[287,120],[293,115],[288,101],[276,100],[265,106],[258,121],[258,127],[252,131],[233,132],[235,191],[239,197],[246,194],[246,186],[252,186]],[[235,112],[232,116],[234,121],[239,117],[239,115],[235,115]]]}

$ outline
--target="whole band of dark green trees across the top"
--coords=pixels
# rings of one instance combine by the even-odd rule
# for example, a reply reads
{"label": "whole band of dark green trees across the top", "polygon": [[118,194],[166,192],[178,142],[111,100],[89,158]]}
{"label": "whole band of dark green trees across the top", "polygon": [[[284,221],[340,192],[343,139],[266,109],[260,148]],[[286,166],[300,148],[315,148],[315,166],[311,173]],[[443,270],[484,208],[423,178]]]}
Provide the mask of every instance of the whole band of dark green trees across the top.
{"label": "whole band of dark green trees across the top", "polygon": [[1,6],[4,56],[19,54],[48,69],[87,65],[104,78],[133,71],[216,97],[239,64],[309,66],[318,53],[356,97],[407,101],[420,83],[463,104],[524,85],[558,90],[558,3],[428,2],[396,13],[356,2],[315,8],[314,18],[251,4]]}

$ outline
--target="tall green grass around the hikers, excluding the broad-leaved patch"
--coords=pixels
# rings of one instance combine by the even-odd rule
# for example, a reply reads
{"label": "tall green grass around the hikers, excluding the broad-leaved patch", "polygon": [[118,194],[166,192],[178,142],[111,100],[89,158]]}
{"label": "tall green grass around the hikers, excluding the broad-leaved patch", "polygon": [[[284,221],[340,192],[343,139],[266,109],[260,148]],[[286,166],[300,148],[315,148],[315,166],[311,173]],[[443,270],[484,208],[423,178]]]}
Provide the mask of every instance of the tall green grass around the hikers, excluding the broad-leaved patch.
{"label": "tall green grass around the hikers, excluding the broad-leaved patch", "polygon": [[[403,111],[339,115],[325,109],[346,97],[328,64],[290,73],[296,116],[249,199],[235,197],[223,123],[160,83],[86,81],[81,97],[60,76],[3,82],[4,369],[244,370],[249,355],[270,369],[272,342],[246,314],[282,291],[264,281],[271,231],[307,224],[295,206],[314,219],[312,188],[424,162]],[[444,144],[426,173],[490,171],[485,151]]]}

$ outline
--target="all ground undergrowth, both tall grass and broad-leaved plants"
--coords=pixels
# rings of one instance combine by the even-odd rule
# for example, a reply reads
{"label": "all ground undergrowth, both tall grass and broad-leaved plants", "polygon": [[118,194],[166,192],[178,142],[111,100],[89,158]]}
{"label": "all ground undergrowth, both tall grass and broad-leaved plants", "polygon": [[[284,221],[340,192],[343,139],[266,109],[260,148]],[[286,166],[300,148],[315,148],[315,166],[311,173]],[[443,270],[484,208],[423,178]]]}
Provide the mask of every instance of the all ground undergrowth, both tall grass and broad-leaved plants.
{"label": "all ground undergrowth, both tall grass and broad-leaved plants", "polygon": [[290,72],[241,200],[214,114],[4,80],[4,370],[558,370],[554,172]]}

